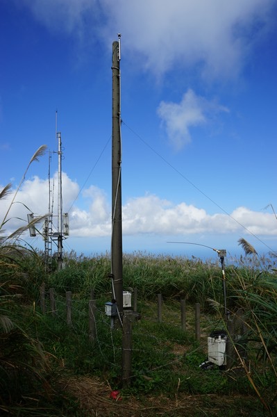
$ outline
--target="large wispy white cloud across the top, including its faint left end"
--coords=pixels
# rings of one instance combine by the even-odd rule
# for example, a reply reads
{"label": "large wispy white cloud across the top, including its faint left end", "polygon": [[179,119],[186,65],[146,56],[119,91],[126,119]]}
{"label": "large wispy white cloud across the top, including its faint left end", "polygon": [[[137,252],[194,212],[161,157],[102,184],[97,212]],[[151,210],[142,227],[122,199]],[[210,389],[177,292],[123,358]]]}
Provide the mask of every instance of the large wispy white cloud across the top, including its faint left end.
{"label": "large wispy white cloud across the top, including its faint left end", "polygon": [[[15,1],[15,0],[14,0]],[[34,17],[110,47],[122,33],[125,51],[157,76],[198,65],[209,78],[240,72],[253,42],[274,21],[275,0],[22,0]]]}

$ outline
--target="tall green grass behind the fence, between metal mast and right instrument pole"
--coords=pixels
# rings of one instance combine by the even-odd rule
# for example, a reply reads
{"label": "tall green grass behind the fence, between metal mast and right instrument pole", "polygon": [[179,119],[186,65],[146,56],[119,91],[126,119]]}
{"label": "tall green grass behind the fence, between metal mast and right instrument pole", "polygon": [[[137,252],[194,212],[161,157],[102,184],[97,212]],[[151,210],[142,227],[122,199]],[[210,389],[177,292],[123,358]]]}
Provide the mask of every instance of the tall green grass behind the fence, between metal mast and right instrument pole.
{"label": "tall green grass behind the fence, between metal mast and right instrument pole", "polygon": [[[66,268],[51,275],[57,291],[65,288],[98,294],[110,291],[110,256],[103,254],[87,258],[65,255]],[[144,252],[124,254],[124,290],[137,288],[140,297],[153,300],[158,293],[165,298],[186,299],[205,304],[210,297],[221,298],[219,265],[183,256],[155,256]]]}

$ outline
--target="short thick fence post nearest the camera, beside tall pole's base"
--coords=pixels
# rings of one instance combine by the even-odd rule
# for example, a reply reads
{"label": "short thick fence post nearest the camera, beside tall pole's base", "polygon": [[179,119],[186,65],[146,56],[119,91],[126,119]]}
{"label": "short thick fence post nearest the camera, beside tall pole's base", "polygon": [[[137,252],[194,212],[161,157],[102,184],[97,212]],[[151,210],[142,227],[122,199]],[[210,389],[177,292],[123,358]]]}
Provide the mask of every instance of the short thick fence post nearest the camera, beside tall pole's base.
{"label": "short thick fence post nearest the camera, beside tall pole's base", "polygon": [[122,383],[124,386],[131,385],[132,317],[133,311],[124,311],[122,329]]}

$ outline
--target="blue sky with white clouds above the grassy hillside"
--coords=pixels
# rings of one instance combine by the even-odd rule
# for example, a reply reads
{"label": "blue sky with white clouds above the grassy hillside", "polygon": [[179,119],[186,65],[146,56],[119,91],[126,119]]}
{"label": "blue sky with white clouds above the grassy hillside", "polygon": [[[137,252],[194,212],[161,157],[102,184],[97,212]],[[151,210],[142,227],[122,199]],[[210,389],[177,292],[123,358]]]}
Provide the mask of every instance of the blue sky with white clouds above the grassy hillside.
{"label": "blue sky with white clouds above the grassy hillside", "polygon": [[[276,3],[0,0],[1,188],[15,190],[45,144],[55,211],[58,111],[65,250],[110,250],[112,41],[121,33],[124,252],[191,256],[208,245],[234,255],[239,238],[276,251]],[[23,204],[47,213],[48,166],[49,153],[31,164],[7,233],[26,221]]]}

